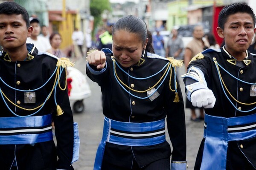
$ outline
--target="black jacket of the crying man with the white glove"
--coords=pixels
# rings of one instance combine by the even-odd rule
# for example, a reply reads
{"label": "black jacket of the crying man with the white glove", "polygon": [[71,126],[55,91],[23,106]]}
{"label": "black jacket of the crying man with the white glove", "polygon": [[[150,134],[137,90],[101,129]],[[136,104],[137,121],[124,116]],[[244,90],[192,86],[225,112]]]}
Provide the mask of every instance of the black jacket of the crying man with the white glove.
{"label": "black jacket of the crying man with the white glove", "polygon": [[[248,56],[244,59],[243,65],[244,67],[239,67],[236,65],[236,59],[233,58],[230,54],[228,54],[224,48],[221,48],[218,51],[207,49],[206,51],[203,51],[203,58],[202,59],[196,59],[191,61],[191,63],[188,66],[188,69],[192,66],[199,68],[205,77],[205,80],[207,82],[207,87],[212,90],[216,102],[213,108],[211,109],[205,109],[205,113],[212,116],[221,116],[221,117],[238,117],[238,116],[246,116],[256,113],[256,109],[253,110],[253,108],[256,107],[256,104],[253,105],[245,105],[242,103],[254,103],[256,102],[256,91],[254,95],[250,95],[250,89],[252,88],[250,84],[244,83],[244,82],[250,82],[250,83],[256,83],[256,55],[250,54],[249,51],[247,51]],[[195,57],[196,58],[196,57]],[[218,66],[221,78],[224,81],[224,84],[226,88],[223,85],[223,88],[220,83],[220,77],[218,76],[218,70],[216,68],[216,64],[213,60],[218,62],[220,66]],[[222,67],[222,68],[221,68]],[[224,71],[224,69],[226,71]],[[229,74],[228,74],[228,73]],[[233,77],[231,75],[233,75]],[[237,78],[237,79],[236,79]],[[238,79],[244,81],[239,81]],[[190,78],[184,79],[185,85],[192,84],[194,80]],[[239,102],[236,102],[230,94],[228,94],[228,91],[230,94]],[[226,94],[224,94],[224,91],[226,91],[226,94],[230,101],[233,103],[233,105],[238,108],[233,107],[233,105],[228,100]],[[248,111],[248,112],[241,112],[241,111]],[[250,111],[252,110],[252,111]],[[243,148],[241,149],[241,144]],[[198,159],[196,161],[196,165],[199,169],[203,154],[203,147],[204,147],[204,139],[202,141],[202,144],[199,149],[198,153]],[[240,151],[241,150],[241,151]],[[254,150],[254,151],[252,151]],[[236,167],[235,169],[244,169],[243,161],[248,159],[251,164],[256,167],[256,138],[246,139],[242,141],[233,141],[229,142],[228,144],[228,151],[227,151],[227,167],[233,166]],[[229,157],[232,156],[233,161],[229,161]],[[245,157],[244,157],[245,156]],[[236,157],[236,158],[235,158]]]}

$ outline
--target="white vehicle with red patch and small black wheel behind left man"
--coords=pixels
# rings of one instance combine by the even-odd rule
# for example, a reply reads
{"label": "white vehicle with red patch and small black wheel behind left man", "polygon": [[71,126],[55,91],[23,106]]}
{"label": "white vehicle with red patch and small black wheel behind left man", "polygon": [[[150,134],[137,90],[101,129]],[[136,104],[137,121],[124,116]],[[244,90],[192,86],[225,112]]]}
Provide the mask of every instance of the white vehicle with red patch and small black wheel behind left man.
{"label": "white vehicle with red patch and small black wheel behind left man", "polygon": [[70,106],[74,113],[84,111],[84,99],[91,96],[90,86],[84,74],[76,68],[67,68],[67,88]]}

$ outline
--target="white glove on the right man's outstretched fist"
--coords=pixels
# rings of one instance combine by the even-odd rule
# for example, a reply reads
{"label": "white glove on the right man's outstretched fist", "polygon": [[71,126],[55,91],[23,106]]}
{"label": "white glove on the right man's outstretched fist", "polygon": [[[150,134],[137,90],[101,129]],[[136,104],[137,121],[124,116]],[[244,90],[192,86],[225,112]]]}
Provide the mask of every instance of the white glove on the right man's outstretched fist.
{"label": "white glove on the right man's outstretched fist", "polygon": [[209,89],[199,89],[190,96],[192,105],[198,108],[213,108],[216,98]]}

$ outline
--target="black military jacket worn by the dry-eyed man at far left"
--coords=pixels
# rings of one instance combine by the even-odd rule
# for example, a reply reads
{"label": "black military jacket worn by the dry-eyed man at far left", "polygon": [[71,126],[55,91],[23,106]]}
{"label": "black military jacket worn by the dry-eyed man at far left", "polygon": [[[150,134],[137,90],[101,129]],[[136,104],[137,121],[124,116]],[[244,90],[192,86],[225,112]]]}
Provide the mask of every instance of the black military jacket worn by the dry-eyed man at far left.
{"label": "black military jacket worn by the dry-eyed man at far left", "polygon": [[[33,44],[27,44],[29,51],[26,61],[12,62],[2,51],[0,54],[0,77],[9,86],[21,90],[36,89],[44,85],[56,68],[57,59],[49,54],[39,52]],[[65,71],[60,78],[61,87],[65,86]],[[25,103],[24,92],[13,90],[0,81],[1,91],[15,104],[23,108],[36,108],[42,103],[52,90],[55,76],[40,90],[35,91],[35,103]],[[56,102],[61,106],[64,114],[56,116]],[[6,99],[5,99],[6,100]],[[7,101],[7,100],[6,100]],[[27,116],[35,111],[26,111],[15,107],[7,101],[9,108],[19,116]],[[0,117],[12,117],[14,114],[9,111],[3,99],[0,100]],[[73,156],[73,115],[67,90],[56,89],[45,103],[43,108],[34,116],[52,114],[55,122],[55,136],[57,139],[57,149],[52,141],[36,144],[2,144],[0,145],[0,169],[9,170],[16,153],[17,166],[19,170],[73,170],[71,165]],[[58,156],[58,161],[57,161]]]}

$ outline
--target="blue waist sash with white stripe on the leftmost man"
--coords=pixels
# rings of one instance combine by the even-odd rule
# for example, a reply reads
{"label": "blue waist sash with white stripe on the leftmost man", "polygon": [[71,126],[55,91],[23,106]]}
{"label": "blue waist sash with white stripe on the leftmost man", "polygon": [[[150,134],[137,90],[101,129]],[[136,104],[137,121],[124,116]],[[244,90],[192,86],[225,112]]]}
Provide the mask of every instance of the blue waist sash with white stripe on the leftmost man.
{"label": "blue waist sash with white stripe on the leftmost man", "polygon": [[52,114],[0,118],[0,144],[35,144],[50,140]]}

